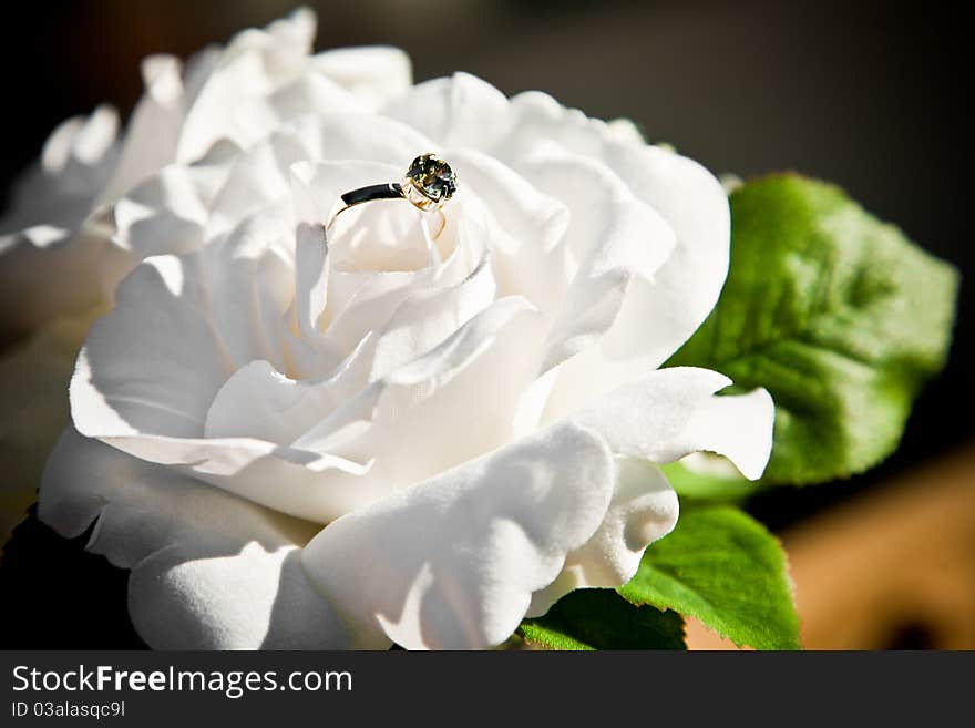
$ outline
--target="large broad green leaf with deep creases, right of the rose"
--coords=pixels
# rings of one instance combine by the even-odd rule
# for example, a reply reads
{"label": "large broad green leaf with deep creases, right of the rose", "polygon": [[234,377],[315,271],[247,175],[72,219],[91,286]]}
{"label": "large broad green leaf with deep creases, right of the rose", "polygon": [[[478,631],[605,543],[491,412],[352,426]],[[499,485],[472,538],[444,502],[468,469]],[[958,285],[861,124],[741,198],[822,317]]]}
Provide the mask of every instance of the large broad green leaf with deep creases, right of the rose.
{"label": "large broad green leaf with deep creases, right of the rose", "polygon": [[797,175],[739,187],[731,268],[711,316],[670,359],[776,401],[768,483],[861,472],[896,449],[944,365],[958,274],[839,188]]}

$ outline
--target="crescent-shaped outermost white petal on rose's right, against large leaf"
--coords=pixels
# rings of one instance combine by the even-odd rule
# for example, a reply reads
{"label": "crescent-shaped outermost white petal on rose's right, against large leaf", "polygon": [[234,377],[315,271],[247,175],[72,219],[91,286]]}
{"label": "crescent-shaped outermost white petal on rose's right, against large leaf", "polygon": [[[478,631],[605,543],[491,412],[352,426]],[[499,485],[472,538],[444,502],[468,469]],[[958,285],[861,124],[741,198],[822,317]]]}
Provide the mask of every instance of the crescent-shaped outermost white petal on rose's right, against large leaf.
{"label": "crescent-shaped outermost white petal on rose's right, against large leaf", "polygon": [[[497,154],[517,167],[542,144],[597,160],[650,205],[676,233],[676,246],[654,275],[627,296],[604,342],[595,373],[620,381],[658,367],[700,326],[728,273],[730,215],[718,180],[697,162],[620,135],[612,125],[530,91],[511,100],[511,133]],[[582,363],[582,362],[579,362]],[[601,375],[602,372],[602,375]]]}

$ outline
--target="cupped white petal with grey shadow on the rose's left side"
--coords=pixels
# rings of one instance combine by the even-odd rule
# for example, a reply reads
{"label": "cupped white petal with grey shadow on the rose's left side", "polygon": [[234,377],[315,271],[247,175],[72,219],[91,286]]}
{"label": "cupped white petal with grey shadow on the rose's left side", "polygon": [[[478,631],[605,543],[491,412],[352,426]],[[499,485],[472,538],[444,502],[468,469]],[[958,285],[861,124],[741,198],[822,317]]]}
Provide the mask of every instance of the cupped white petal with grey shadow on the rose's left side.
{"label": "cupped white petal with grey shadow on the rose's left side", "polygon": [[[136,268],[80,356],[71,390],[76,427],[92,437],[199,437],[233,371],[255,359],[284,368],[294,235],[283,211],[266,211],[199,252]],[[318,353],[326,369],[341,361]]]}

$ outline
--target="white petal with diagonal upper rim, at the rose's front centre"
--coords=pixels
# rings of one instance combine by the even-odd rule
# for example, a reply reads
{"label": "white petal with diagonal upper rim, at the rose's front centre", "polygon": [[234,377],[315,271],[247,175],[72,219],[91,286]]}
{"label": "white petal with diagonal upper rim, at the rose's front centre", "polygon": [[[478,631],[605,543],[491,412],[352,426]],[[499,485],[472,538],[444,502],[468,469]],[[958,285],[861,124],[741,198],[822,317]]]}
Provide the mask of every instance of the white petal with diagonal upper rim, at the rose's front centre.
{"label": "white petal with diagonal upper rim, at the rose's front centre", "polygon": [[347,510],[501,447],[511,440],[519,396],[537,367],[532,342],[540,324],[525,299],[499,299],[292,447],[371,463],[353,492],[335,493]]}

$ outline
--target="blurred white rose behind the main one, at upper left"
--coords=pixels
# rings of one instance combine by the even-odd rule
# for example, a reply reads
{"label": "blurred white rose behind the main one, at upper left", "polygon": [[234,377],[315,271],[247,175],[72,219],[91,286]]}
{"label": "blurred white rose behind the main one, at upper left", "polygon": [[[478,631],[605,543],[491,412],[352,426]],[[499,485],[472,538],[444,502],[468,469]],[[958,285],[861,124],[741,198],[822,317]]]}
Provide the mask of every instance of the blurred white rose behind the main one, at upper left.
{"label": "blurred white rose behind the main one, at upper left", "polygon": [[[16,382],[12,396],[0,400],[7,466],[0,542],[33,500],[38,463],[66,422],[63,388],[92,318],[142,258],[173,249],[168,240],[158,249],[131,247],[119,226],[137,225],[141,208],[132,201],[113,203],[173,163],[205,168],[204,152],[233,154],[319,107],[371,111],[409,88],[402,51],[311,55],[314,33],[314,14],[299,10],[265,30],[238,34],[224,49],[202,51],[185,68],[170,55],[146,59],[145,93],[124,137],[111,106],[70,119],[14,189],[0,218],[0,344],[23,341],[0,355],[0,371]],[[195,183],[205,186],[207,180],[201,174]],[[27,437],[20,431],[24,421],[31,423]]]}

